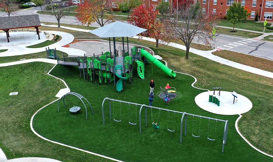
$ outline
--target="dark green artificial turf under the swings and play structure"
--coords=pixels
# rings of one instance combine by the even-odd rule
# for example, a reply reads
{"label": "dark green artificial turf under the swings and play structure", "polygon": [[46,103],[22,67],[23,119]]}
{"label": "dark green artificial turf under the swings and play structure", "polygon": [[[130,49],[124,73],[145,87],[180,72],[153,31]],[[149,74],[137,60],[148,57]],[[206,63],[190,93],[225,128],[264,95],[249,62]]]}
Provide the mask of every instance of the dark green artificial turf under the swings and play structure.
{"label": "dark green artificial turf under the swings and play structure", "polygon": [[[195,104],[194,97],[204,92],[204,90],[191,87],[194,78],[177,73],[177,77],[171,79],[156,66],[153,66],[153,75],[151,75],[151,65],[151,63],[146,65],[145,80],[134,77],[133,84],[127,82],[121,93],[116,91],[113,83],[99,85],[98,78],[93,84],[83,80],[83,78],[79,77],[77,67],[56,66],[51,74],[64,78],[72,92],[79,93],[88,99],[95,114],[92,115],[90,107],[87,107],[88,120],[86,120],[86,111],[84,109],[72,114],[68,111],[69,107],[65,108],[62,102],[60,103],[60,112],[58,112],[58,102],[54,102],[36,114],[33,120],[34,129],[50,140],[122,161],[181,161],[181,159],[187,159],[187,161],[218,161],[219,159],[225,159],[226,161],[257,161],[261,158],[265,161],[271,160],[252,149],[236,132],[234,125],[238,115],[227,116],[209,113]],[[221,152],[224,123],[219,121],[217,122],[215,141],[209,141],[207,137],[214,138],[215,135],[215,121],[210,121],[208,131],[208,120],[200,120],[195,117],[193,123],[193,118],[188,116],[187,136],[183,136],[183,142],[179,143],[181,114],[175,114],[175,132],[169,132],[167,130],[167,111],[161,111],[157,121],[159,111],[153,110],[153,121],[159,123],[160,129],[152,128],[151,109],[147,109],[148,127],[145,127],[144,111],[142,111],[143,124],[142,134],[140,134],[138,124],[130,125],[128,123],[128,104],[111,102],[112,116],[117,120],[121,119],[121,122],[115,122],[113,119],[109,119],[109,108],[107,107],[109,104],[106,102],[104,104],[105,125],[102,125],[101,104],[105,97],[148,105],[150,79],[155,81],[154,93],[156,95],[160,93],[159,87],[165,86],[166,83],[177,89],[177,97],[171,100],[168,107],[158,96],[153,101],[154,106],[229,120],[225,152]],[[79,99],[68,97],[74,106],[79,104]],[[70,102],[66,102],[66,104],[72,107]],[[83,108],[83,106],[81,107]],[[131,122],[137,121],[138,116],[135,116],[135,106],[130,105],[130,109]],[[138,112],[140,107],[137,106],[136,109]],[[174,114],[169,113],[169,127],[173,128],[173,126]],[[191,134],[199,134],[199,127],[200,137],[195,138]]]}

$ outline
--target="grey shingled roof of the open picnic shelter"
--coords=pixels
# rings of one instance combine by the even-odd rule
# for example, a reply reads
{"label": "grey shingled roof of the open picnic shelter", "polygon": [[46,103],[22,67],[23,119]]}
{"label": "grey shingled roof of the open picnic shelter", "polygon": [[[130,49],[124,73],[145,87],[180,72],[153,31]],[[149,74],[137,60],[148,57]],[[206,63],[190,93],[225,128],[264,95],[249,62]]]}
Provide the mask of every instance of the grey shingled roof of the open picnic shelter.
{"label": "grey shingled roof of the open picnic shelter", "polygon": [[41,26],[39,15],[0,17],[0,30]]}

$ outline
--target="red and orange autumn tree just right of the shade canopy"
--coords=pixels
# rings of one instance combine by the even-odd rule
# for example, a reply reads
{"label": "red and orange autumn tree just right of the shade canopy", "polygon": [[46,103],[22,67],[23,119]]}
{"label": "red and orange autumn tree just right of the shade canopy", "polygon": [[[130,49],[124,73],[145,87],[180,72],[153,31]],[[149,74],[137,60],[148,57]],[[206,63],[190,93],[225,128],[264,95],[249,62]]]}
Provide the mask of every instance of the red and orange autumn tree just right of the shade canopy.
{"label": "red and orange autumn tree just right of the shade canopy", "polygon": [[158,47],[159,39],[167,40],[165,25],[157,19],[158,14],[157,9],[146,9],[144,5],[139,5],[133,10],[131,19],[128,20],[132,25],[147,29],[140,35],[156,39],[156,47]]}

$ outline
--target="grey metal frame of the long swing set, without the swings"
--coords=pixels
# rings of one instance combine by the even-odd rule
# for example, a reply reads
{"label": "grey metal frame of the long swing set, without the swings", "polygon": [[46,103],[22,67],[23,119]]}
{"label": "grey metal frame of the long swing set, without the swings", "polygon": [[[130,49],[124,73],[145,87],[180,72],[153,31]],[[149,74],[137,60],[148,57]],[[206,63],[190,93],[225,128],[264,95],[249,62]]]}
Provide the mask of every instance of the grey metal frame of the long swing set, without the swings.
{"label": "grey metal frame of the long swing set, without the swings", "polygon": [[[109,112],[110,112],[110,119],[112,119],[112,113],[111,113],[111,101],[116,101],[116,102],[122,102],[122,103],[128,103],[128,104],[132,104],[132,105],[138,105],[141,106],[140,110],[139,110],[139,133],[142,133],[141,131],[141,111],[142,108],[145,108],[145,126],[147,127],[147,108],[151,108],[151,109],[158,109],[158,110],[162,110],[162,111],[168,111],[168,112],[173,112],[173,113],[178,113],[178,114],[182,114],[181,117],[181,123],[180,123],[180,143],[182,143],[182,133],[183,133],[183,121],[185,128],[184,128],[184,136],[187,135],[187,116],[193,116],[193,117],[199,117],[201,118],[205,118],[205,119],[209,119],[209,120],[216,120],[218,122],[224,122],[225,126],[224,126],[224,133],[223,133],[223,143],[222,143],[222,152],[224,152],[224,147],[225,144],[227,144],[227,128],[228,128],[228,120],[221,120],[221,119],[215,119],[215,118],[210,118],[210,117],[206,117],[206,116],[200,116],[200,115],[195,115],[195,114],[189,114],[186,112],[180,112],[180,111],[174,111],[174,110],[169,110],[169,109],[163,109],[160,107],[153,107],[153,106],[147,106],[145,104],[137,104],[137,103],[133,103],[133,102],[126,102],[126,101],[121,101],[121,100],[115,100],[115,99],[111,99],[106,97],[103,101],[102,101],[102,121],[103,121],[103,125],[105,125],[105,117],[104,117],[104,103],[106,100],[109,100]],[[216,126],[215,126],[216,127]],[[211,141],[214,141],[212,139],[209,139]]]}

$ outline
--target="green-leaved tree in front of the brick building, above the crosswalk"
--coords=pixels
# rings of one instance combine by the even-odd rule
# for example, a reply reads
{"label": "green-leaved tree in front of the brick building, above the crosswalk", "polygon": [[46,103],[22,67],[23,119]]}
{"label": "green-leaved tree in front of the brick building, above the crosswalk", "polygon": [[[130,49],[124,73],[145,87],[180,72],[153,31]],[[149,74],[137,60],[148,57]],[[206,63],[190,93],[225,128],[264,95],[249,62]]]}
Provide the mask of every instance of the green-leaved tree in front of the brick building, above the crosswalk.
{"label": "green-leaved tree in front of the brick building, above the crosswalk", "polygon": [[250,12],[248,12],[248,9],[245,8],[245,6],[241,6],[241,3],[234,2],[229,8],[227,9],[227,20],[230,21],[233,24],[233,30],[232,32],[236,32],[234,30],[235,25],[244,20]]}

